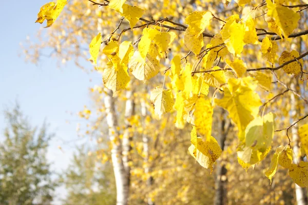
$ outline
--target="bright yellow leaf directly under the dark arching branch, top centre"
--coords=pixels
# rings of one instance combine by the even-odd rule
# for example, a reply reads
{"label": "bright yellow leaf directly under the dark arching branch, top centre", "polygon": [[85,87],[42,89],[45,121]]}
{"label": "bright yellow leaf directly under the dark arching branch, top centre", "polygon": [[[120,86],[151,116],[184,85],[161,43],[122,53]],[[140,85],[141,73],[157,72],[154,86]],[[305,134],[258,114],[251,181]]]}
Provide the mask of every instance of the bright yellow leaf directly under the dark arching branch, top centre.
{"label": "bright yellow leaf directly under the dark arching branch, top centre", "polygon": [[148,37],[160,48],[161,52],[167,50],[177,35],[174,32],[160,32],[156,29],[148,29]]}

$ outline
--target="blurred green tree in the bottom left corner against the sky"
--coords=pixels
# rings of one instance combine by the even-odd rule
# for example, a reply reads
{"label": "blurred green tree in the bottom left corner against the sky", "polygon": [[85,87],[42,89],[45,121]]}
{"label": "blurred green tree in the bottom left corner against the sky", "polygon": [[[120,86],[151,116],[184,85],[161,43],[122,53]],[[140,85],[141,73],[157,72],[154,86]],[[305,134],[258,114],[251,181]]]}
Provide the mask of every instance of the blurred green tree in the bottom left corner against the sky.
{"label": "blurred green tree in the bottom left corner against the sky", "polygon": [[0,144],[0,204],[51,204],[57,186],[52,180],[47,125],[32,127],[16,105],[5,111],[7,126]]}

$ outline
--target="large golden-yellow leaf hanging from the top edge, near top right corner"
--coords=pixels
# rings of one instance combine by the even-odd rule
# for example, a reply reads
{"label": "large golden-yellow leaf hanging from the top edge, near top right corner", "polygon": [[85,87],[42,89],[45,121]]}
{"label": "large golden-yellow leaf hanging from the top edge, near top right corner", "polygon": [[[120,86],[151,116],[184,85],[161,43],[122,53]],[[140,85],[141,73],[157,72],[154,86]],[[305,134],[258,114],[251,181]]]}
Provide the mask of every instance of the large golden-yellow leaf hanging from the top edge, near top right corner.
{"label": "large golden-yellow leaf hanging from the top edge, near top right corner", "polygon": [[280,4],[273,4],[272,0],[266,0],[266,4],[267,15],[274,18],[275,23],[283,31],[284,37],[287,38],[297,28],[299,13]]}

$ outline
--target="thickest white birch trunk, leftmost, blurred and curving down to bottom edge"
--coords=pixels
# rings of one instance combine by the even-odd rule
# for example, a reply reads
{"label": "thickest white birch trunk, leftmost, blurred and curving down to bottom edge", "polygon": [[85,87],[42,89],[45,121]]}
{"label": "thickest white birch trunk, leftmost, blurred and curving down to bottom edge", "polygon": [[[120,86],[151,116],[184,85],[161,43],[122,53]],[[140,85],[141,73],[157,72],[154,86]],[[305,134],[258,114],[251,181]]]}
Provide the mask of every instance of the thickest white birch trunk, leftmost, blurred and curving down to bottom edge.
{"label": "thickest white birch trunk, leftmost, blurred and curving down to bottom edge", "polygon": [[109,127],[109,139],[111,141],[111,160],[115,177],[115,186],[117,187],[117,205],[127,205],[128,186],[125,169],[122,161],[122,144],[117,130],[118,121],[115,113],[114,98],[112,91],[105,89],[105,108],[107,113],[107,124]]}

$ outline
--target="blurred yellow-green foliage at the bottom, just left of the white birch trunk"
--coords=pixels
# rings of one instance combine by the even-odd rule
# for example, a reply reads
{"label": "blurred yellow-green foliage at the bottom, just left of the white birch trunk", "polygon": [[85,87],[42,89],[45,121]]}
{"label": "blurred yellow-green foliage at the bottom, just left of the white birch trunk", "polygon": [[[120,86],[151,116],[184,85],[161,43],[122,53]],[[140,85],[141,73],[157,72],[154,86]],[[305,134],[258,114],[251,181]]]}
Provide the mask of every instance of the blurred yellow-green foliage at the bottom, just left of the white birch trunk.
{"label": "blurred yellow-green foliage at the bottom, just left of the white birch trunk", "polygon": [[115,204],[115,182],[110,163],[102,165],[97,155],[82,146],[74,153],[63,182],[68,190],[66,205]]}

